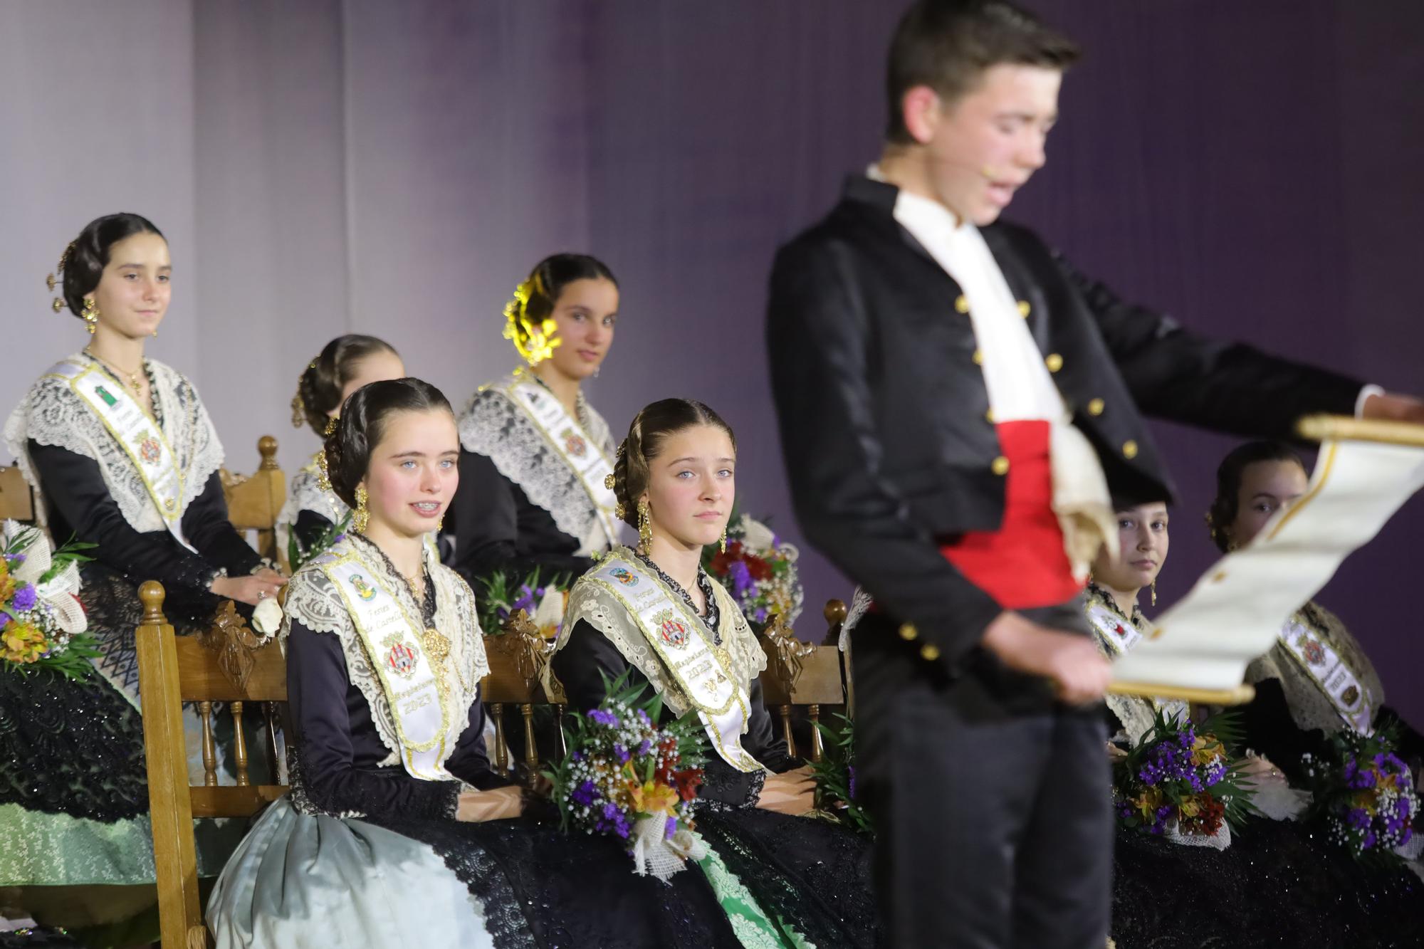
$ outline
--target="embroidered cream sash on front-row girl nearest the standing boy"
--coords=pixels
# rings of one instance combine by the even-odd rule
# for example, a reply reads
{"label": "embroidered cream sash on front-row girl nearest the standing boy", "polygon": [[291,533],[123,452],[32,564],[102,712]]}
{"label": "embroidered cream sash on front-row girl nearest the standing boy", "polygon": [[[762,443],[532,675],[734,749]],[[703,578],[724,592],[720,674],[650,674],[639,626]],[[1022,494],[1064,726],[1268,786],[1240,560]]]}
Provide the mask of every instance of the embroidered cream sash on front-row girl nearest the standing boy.
{"label": "embroidered cream sash on front-row girl nearest the standing boy", "polygon": [[[726,650],[706,640],[702,620],[682,597],[617,550],[584,577],[608,590],[637,620],[672,681],[698,710],[718,755],[738,771],[763,769],[742,748],[750,695],[732,674]],[[732,607],[722,604],[722,608]]]}

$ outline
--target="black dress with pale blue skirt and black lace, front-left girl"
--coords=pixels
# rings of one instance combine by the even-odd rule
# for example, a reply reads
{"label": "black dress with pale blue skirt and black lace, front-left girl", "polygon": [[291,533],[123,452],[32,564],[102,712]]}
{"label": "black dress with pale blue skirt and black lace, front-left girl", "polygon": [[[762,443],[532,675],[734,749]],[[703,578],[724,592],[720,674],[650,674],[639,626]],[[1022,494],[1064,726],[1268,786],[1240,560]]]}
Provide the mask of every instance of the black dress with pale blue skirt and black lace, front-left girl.
{"label": "black dress with pale blue skirt and black lace, front-left girl", "polygon": [[[423,606],[433,624],[431,598]],[[446,761],[456,782],[380,764],[389,750],[337,634],[293,618],[288,694],[293,792],[258,818],[224,869],[208,903],[219,949],[745,945],[695,868],[666,883],[637,876],[619,842],[565,835],[548,805],[531,805],[518,819],[456,821],[460,782],[503,784],[490,771],[477,700]],[[476,902],[454,899],[451,879]]]}

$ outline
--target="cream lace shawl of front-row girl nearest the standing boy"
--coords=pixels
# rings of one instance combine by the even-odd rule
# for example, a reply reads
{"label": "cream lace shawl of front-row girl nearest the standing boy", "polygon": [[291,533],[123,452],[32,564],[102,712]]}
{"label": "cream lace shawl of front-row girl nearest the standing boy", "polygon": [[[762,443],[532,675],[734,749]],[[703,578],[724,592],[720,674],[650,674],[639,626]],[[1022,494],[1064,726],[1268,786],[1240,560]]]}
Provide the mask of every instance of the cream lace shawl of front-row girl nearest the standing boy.
{"label": "cream lace shawl of front-row girl nearest the standing boy", "polygon": [[[614,553],[625,557],[635,557],[627,547],[617,547]],[[597,566],[595,566],[597,569]],[[682,594],[668,587],[651,571],[642,574],[654,580],[674,600],[681,600]],[[712,581],[712,596],[718,604],[718,633],[722,636],[722,648],[726,650],[728,667],[743,690],[750,690],[752,680],[766,668],[766,653],[756,641],[756,634],[746,624],[746,617],[736,608],[732,596],[718,583]],[[602,586],[580,579],[574,588],[568,591],[568,613],[564,616],[564,626],[560,630],[555,651],[568,641],[570,633],[580,620],[587,620],[595,630],[608,637],[625,660],[638,667],[638,671],[648,677],[652,688],[662,695],[664,704],[672,710],[674,715],[684,715],[692,708],[691,700],[684,694],[678,681],[658,658],[658,653],[648,644],[638,617],[612,593]]]}

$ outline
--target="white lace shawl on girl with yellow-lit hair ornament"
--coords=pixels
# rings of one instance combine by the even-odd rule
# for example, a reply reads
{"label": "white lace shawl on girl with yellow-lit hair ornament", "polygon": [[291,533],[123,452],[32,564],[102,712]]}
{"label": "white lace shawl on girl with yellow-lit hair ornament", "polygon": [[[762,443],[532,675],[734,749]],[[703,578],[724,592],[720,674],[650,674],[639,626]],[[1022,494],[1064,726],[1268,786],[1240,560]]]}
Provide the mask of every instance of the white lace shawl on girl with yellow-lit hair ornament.
{"label": "white lace shawl on girl with yellow-lit hair ornament", "polygon": [[[460,445],[490,459],[500,474],[520,486],[530,503],[547,510],[561,531],[578,540],[581,556],[607,550],[609,540],[617,541],[617,537],[605,536],[598,510],[578,474],[506,392],[517,380],[521,379],[510,375],[480,386],[460,413]],[[582,393],[578,395],[578,423],[600,452],[614,456],[617,446],[608,423]]]}

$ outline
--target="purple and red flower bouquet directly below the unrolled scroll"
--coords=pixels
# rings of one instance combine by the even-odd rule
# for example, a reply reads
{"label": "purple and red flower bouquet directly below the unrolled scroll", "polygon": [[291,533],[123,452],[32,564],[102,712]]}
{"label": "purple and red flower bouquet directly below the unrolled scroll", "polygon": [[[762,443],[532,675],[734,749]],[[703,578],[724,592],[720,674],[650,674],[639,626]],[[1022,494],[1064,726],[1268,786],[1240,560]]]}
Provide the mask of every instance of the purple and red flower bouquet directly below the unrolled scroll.
{"label": "purple and red flower bouquet directly below the unrolled scroll", "polygon": [[1239,828],[1256,812],[1245,762],[1227,751],[1239,741],[1237,721],[1222,712],[1193,725],[1159,710],[1151,731],[1114,764],[1118,821],[1142,834],[1225,846],[1227,825]]}

